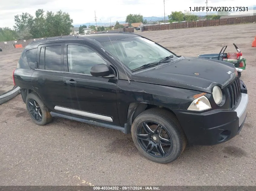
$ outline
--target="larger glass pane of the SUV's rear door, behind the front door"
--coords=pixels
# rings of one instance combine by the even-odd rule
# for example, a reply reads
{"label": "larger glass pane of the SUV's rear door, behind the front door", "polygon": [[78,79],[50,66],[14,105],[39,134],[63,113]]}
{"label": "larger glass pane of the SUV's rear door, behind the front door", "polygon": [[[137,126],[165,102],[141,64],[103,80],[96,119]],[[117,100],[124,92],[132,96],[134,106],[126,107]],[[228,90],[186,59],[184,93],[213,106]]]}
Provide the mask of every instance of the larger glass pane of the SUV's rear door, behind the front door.
{"label": "larger glass pane of the SUV's rear door, behind the front door", "polygon": [[45,47],[45,70],[63,71],[61,48],[61,45]]}

